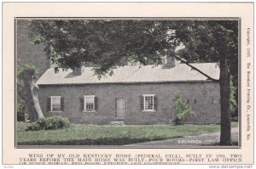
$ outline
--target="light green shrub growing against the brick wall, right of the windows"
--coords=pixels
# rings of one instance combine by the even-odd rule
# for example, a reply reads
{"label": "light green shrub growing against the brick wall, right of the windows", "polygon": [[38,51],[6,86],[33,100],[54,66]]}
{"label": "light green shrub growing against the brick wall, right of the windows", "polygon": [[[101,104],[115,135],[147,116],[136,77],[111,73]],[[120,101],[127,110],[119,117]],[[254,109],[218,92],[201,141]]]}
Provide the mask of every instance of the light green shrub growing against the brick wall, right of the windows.
{"label": "light green shrub growing against the brick wall, right of the windows", "polygon": [[174,122],[175,125],[183,125],[185,118],[188,115],[195,115],[195,111],[191,107],[184,103],[180,94],[175,94],[173,99],[173,109],[174,109]]}

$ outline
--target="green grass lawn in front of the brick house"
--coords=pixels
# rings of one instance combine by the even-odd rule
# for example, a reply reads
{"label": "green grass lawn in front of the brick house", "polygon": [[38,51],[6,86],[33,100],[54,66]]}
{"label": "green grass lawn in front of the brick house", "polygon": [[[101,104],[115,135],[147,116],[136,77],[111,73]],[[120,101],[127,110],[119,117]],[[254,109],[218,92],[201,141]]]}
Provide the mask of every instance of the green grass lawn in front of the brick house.
{"label": "green grass lawn in front of the brick house", "polygon": [[[25,131],[28,123],[17,123],[18,145],[122,145],[167,138],[219,132],[219,125],[79,125],[59,130]],[[237,122],[232,122],[237,127]]]}

